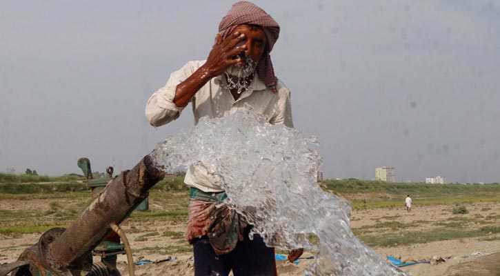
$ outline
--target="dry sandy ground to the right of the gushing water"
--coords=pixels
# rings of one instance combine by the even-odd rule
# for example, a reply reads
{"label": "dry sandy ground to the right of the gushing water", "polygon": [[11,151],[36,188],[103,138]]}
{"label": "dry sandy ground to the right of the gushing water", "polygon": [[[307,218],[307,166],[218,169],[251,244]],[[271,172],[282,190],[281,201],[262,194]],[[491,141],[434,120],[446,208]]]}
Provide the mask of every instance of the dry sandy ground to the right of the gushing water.
{"label": "dry sandy ground to the right of the gushing water", "polygon": [[[476,203],[476,204],[464,204],[469,210],[466,215],[458,215],[463,218],[463,224],[465,224],[466,229],[478,228],[482,224],[480,221],[473,221],[476,217],[496,217],[500,213],[499,203]],[[413,229],[398,229],[397,231],[404,233],[405,231],[421,230],[421,231],[432,231],[437,226],[436,224],[442,223],[443,221],[450,221],[451,219],[457,219],[457,215],[452,215],[451,209],[454,206],[416,206],[413,208],[412,213],[407,213],[403,208],[379,208],[379,209],[368,209],[354,211],[352,214],[352,228],[359,228],[362,226],[370,225],[376,223],[375,221],[391,221],[397,220],[402,224],[410,224],[414,221],[418,221],[417,225]],[[470,218],[470,221],[467,220]],[[468,221],[468,222],[465,222]],[[472,224],[472,225],[471,225]],[[492,221],[493,225],[499,226],[499,221]],[[388,255],[394,257],[401,257],[403,261],[420,261],[429,260],[431,264],[415,264],[412,266],[404,266],[401,270],[411,273],[414,276],[459,276],[459,275],[500,275],[500,270],[497,270],[498,266],[494,268],[494,273],[491,274],[457,274],[457,272],[452,269],[454,267],[463,266],[463,264],[471,263],[481,266],[483,262],[482,259],[488,259],[491,257],[496,258],[496,262],[500,263],[500,255],[492,255],[492,253],[500,252],[500,239],[498,234],[490,234],[487,237],[471,237],[463,239],[450,239],[446,241],[438,242],[426,242],[419,244],[410,244],[406,246],[394,245],[394,246],[377,246],[374,250],[377,251],[384,259]],[[489,256],[489,257],[486,257]],[[433,259],[442,258],[445,262],[433,262]],[[491,268],[488,262],[483,264],[484,268]],[[461,271],[459,273],[466,273],[466,271]]]}

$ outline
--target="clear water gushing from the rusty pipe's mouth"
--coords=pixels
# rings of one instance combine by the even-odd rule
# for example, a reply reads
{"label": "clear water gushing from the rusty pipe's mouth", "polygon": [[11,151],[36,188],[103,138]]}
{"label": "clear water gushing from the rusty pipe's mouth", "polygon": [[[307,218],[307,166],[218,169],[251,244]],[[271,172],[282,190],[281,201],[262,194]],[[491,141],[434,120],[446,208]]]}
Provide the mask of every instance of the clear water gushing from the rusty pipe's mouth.
{"label": "clear water gushing from the rusty pipe's mouth", "polygon": [[[168,137],[152,155],[166,171],[197,164],[218,175],[227,203],[247,217],[252,233],[268,246],[317,250],[306,275],[407,275],[354,236],[350,205],[317,184],[321,157],[310,144],[317,139],[241,110],[202,118]],[[309,242],[310,233],[319,244]]]}

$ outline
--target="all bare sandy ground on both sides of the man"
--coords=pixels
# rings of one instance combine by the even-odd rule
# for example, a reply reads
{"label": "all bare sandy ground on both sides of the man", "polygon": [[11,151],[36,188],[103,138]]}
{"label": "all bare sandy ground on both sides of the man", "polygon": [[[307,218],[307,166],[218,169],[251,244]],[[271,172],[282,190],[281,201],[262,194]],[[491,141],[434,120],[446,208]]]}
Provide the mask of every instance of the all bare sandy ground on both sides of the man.
{"label": "all bare sandy ground on both sides of the man", "polygon": [[[3,214],[9,212],[21,212],[32,214],[30,219],[34,221],[57,220],[51,217],[47,211],[37,215],[40,210],[50,210],[54,206],[53,198],[38,198],[30,200],[0,200],[0,210]],[[65,208],[76,208],[77,211],[84,208],[82,204],[71,203],[61,199]],[[83,199],[79,199],[83,201]],[[69,206],[69,207],[68,207]],[[179,206],[183,206],[181,203]],[[465,204],[469,212],[461,215],[462,219],[457,220],[457,215],[452,215],[451,209],[454,206],[415,206],[412,213],[407,213],[403,208],[368,208],[367,210],[354,210],[352,213],[351,226],[354,229],[371,229],[377,235],[395,235],[412,233],[414,231],[432,231],[440,227],[442,223],[455,221],[462,223],[465,229],[479,228],[485,225],[481,219],[490,219],[488,225],[500,225],[500,203],[480,202],[475,204]],[[178,208],[178,206],[171,206]],[[161,201],[150,203],[150,209],[165,208]],[[74,212],[74,210],[72,210]],[[68,219],[69,222],[71,218]],[[5,216],[0,218],[1,224],[18,224],[16,216]],[[398,221],[403,228],[377,228],[377,224],[384,222]],[[165,217],[155,219],[137,215],[123,223],[123,229],[128,233],[128,239],[133,249],[134,262],[161,261],[170,257],[170,261],[159,262],[157,264],[143,264],[135,266],[136,275],[193,275],[193,261],[190,246],[181,237],[186,226],[183,217]],[[371,227],[371,228],[370,228]],[[370,235],[373,233],[369,233]],[[19,254],[31,244],[39,239],[39,233],[30,234],[0,234],[0,264],[13,262]],[[431,264],[415,264],[401,268],[410,272],[414,276],[489,276],[500,275],[500,235],[498,233],[487,233],[484,237],[468,237],[461,239],[441,240],[437,242],[421,242],[408,245],[393,244],[391,246],[375,246],[384,259],[388,255],[401,257],[403,260],[428,260]],[[306,252],[303,257],[308,257],[313,253]],[[436,259],[441,262],[436,262]],[[279,275],[303,275],[303,270],[310,266],[314,260],[301,259],[300,263],[290,264],[284,261],[277,261]],[[479,267],[477,267],[479,266]],[[128,275],[126,266],[126,256],[119,256],[119,269],[122,275]],[[471,272],[472,271],[472,272]],[[466,273],[466,274],[463,274]],[[467,274],[469,273],[469,274]],[[482,273],[482,274],[481,274]]]}

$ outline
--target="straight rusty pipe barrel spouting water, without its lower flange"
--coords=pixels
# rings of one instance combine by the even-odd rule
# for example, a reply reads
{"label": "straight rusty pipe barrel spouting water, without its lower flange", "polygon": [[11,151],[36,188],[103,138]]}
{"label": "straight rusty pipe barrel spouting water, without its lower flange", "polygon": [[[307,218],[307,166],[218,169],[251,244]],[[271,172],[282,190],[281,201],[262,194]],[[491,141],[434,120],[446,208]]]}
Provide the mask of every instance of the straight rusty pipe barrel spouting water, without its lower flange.
{"label": "straight rusty pipe barrel spouting water, without its lower flange", "polygon": [[148,190],[165,176],[146,155],[132,170],[122,172],[103,193],[52,244],[55,262],[79,267],[101,240],[110,224],[120,224],[148,196]]}

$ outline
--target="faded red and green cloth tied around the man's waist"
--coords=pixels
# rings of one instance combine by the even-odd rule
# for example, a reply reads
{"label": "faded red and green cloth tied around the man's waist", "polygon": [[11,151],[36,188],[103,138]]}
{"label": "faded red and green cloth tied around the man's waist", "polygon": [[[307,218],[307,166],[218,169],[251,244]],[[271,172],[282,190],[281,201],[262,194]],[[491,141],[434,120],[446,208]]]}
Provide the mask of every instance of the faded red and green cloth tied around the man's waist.
{"label": "faded red and green cloth tied around the man's waist", "polygon": [[197,188],[190,190],[188,229],[186,239],[207,235],[216,255],[230,253],[238,241],[243,240],[243,231],[249,225],[236,210],[223,202],[226,193],[205,193]]}

